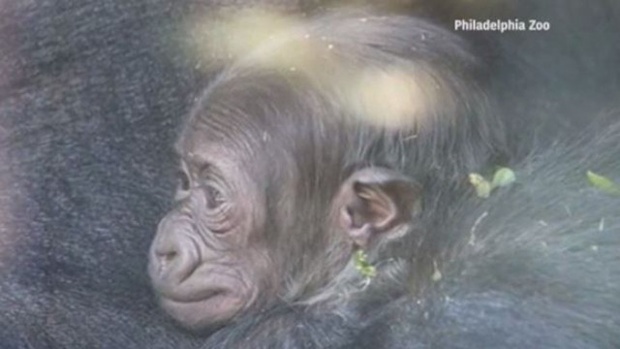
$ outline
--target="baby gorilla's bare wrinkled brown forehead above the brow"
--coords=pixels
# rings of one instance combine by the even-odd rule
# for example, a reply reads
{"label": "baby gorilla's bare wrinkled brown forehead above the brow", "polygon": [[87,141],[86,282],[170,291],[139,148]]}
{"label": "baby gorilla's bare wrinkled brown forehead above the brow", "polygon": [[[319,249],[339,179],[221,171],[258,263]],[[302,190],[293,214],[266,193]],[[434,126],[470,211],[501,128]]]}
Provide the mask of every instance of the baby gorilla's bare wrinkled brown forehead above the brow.
{"label": "baby gorilla's bare wrinkled brown forehead above the brow", "polygon": [[[221,79],[197,102],[177,144],[180,153],[218,144],[250,154],[312,132],[316,98],[280,74]],[[311,102],[312,101],[312,102]],[[323,109],[323,108],[318,108]]]}

